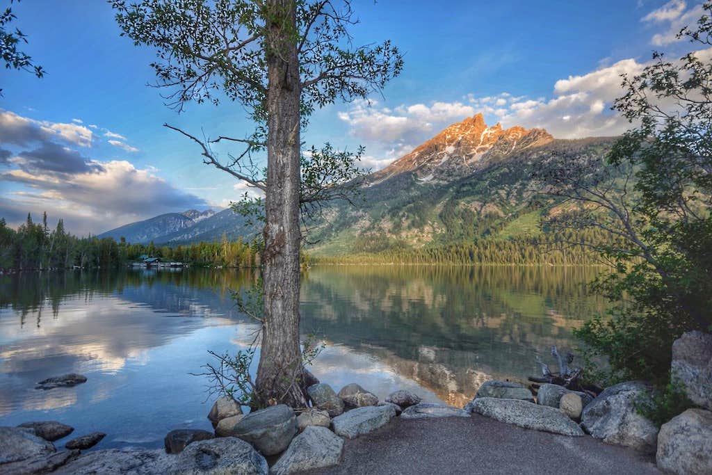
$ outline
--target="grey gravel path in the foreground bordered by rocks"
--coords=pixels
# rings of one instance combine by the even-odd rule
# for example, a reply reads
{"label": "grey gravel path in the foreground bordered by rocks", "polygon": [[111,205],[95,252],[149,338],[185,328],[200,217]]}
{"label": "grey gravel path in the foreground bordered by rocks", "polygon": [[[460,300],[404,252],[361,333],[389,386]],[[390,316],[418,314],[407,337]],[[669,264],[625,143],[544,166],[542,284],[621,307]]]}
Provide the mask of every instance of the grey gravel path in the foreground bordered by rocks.
{"label": "grey gravel path in the foreground bordered by rocks", "polygon": [[654,457],[521,429],[473,414],[466,419],[403,420],[344,444],[338,466],[313,474],[660,474]]}

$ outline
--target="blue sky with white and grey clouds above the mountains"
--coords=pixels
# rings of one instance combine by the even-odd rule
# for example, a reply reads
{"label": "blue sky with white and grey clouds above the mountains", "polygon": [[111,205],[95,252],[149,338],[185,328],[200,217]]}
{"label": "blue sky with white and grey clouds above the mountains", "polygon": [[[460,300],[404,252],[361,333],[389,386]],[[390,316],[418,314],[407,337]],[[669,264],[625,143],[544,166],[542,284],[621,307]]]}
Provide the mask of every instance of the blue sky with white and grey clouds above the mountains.
{"label": "blue sky with white and grey clouds above the mountains", "polygon": [[[355,45],[391,39],[404,71],[369,102],[318,110],[305,145],[366,147],[380,169],[447,125],[476,113],[503,127],[543,127],[557,138],[618,135],[629,126],[610,107],[620,75],[653,51],[689,51],[675,33],[701,4],[671,0],[353,0]],[[0,0],[0,9],[9,0]],[[23,51],[43,78],[0,70],[0,217],[27,213],[78,235],[167,212],[222,209],[244,184],[202,163],[194,135],[242,137],[253,130],[239,103],[164,105],[150,63],[155,50],[120,36],[98,0],[14,2]]]}

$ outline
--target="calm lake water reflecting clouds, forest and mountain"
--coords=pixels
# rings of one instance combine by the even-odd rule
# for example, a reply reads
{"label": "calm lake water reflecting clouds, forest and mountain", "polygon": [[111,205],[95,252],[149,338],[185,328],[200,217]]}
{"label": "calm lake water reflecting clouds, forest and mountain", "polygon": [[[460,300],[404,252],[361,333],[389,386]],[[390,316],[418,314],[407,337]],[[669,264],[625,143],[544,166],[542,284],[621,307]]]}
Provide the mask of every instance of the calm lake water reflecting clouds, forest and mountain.
{"label": "calm lake water reflecting clouds, forest and mountain", "polygon": [[[551,345],[604,302],[593,268],[315,266],[303,276],[302,330],[324,338],[311,368],[335,390],[358,382],[462,406],[492,377],[525,379]],[[183,427],[210,429],[206,380],[190,375],[245,348],[253,323],[231,289],[250,271],[23,273],[0,276],[0,425],[58,420],[101,431],[99,448],[161,447]],[[255,361],[256,362],[256,361]],[[36,382],[80,372],[73,388]],[[58,442],[63,443],[63,441]]]}

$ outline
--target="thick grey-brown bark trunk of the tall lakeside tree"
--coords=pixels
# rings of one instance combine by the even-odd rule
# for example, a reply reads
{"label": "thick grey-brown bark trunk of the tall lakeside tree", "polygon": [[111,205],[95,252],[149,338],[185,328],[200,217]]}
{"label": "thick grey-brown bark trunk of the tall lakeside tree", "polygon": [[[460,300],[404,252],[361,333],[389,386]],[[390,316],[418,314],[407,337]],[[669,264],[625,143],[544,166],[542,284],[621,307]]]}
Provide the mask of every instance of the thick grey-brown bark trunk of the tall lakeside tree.
{"label": "thick grey-brown bark trunk of the tall lakeside tree", "polygon": [[264,325],[256,387],[263,404],[304,407],[299,381],[300,95],[295,2],[266,2],[267,193]]}

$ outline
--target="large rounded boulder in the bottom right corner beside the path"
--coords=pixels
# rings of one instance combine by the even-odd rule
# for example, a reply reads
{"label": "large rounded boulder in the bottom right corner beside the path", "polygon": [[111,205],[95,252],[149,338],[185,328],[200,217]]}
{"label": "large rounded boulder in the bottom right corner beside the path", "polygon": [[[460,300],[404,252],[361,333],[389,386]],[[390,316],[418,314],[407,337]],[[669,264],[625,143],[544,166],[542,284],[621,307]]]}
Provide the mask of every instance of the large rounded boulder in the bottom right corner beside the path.
{"label": "large rounded boulder in the bottom right corner beside the path", "polygon": [[680,475],[712,473],[712,412],[687,409],[658,434],[658,468]]}

